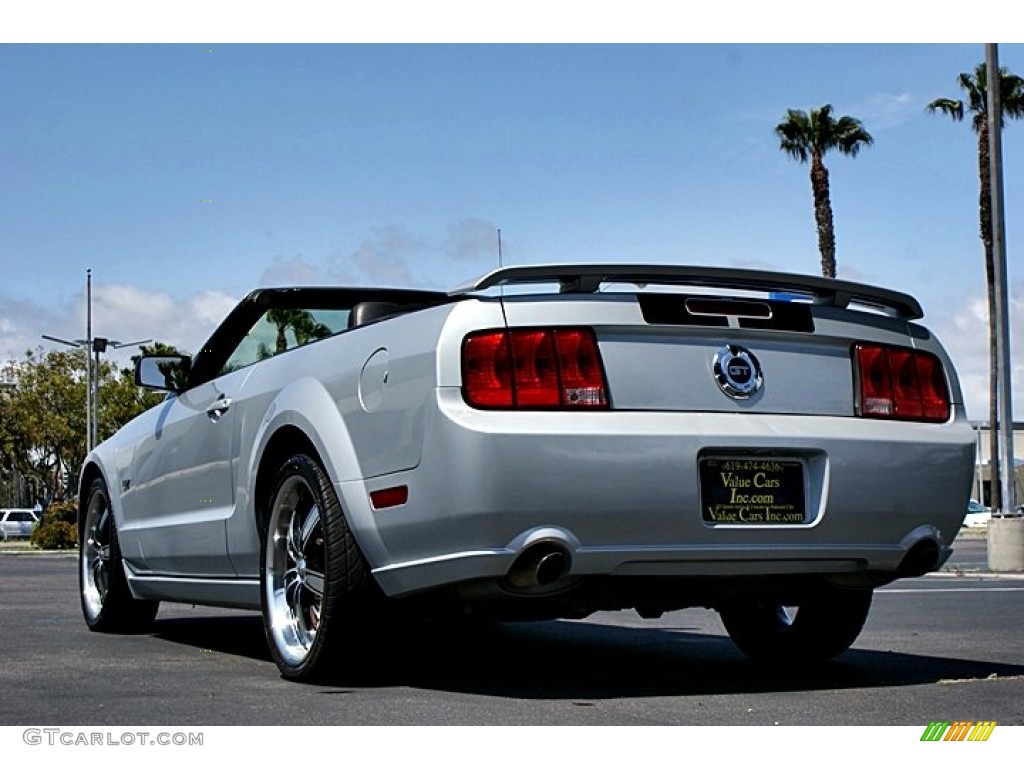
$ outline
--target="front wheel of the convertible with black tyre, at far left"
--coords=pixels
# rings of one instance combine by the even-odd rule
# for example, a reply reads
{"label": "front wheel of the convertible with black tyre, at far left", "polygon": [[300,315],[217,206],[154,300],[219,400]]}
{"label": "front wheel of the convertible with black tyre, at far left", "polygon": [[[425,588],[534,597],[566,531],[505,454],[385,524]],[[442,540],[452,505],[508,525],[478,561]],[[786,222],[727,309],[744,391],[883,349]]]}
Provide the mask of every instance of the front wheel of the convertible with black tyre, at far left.
{"label": "front wheel of the convertible with black tyre, at far left", "polygon": [[85,623],[94,632],[144,632],[153,624],[160,602],[136,600],[131,595],[111,497],[100,477],[89,486],[81,519],[78,578]]}

